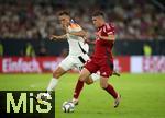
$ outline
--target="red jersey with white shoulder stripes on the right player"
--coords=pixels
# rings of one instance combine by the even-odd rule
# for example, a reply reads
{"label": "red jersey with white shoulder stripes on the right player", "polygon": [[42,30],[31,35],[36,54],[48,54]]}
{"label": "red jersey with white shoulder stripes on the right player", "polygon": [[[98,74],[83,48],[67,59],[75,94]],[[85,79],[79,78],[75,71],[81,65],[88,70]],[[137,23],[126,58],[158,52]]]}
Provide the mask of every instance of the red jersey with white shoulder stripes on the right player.
{"label": "red jersey with white shoulder stripes on the right player", "polygon": [[[98,28],[97,33],[101,34],[101,36],[114,35],[114,26],[111,23],[106,23]],[[113,43],[114,42],[112,40],[105,40],[96,37],[95,52],[92,57],[113,59],[111,52]]]}

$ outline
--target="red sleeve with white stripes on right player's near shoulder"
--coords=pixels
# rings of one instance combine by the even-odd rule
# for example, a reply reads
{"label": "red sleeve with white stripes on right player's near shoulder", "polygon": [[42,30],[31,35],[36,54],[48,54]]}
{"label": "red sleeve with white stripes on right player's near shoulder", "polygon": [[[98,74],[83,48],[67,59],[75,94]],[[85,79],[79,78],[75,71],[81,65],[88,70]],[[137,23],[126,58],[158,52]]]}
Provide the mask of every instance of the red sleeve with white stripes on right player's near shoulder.
{"label": "red sleeve with white stripes on right player's near shoulder", "polygon": [[114,35],[114,25],[107,23],[103,27],[103,32],[108,35]]}

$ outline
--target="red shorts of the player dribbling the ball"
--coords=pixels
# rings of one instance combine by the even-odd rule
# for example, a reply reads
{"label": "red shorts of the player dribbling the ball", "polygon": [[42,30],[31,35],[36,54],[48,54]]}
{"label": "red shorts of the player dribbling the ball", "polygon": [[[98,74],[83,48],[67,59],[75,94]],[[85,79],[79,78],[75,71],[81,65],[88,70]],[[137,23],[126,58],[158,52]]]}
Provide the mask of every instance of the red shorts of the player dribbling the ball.
{"label": "red shorts of the player dribbling the ball", "polygon": [[107,58],[91,58],[91,60],[86,62],[85,68],[90,73],[96,73],[99,71],[101,76],[109,78],[113,73],[113,60]]}

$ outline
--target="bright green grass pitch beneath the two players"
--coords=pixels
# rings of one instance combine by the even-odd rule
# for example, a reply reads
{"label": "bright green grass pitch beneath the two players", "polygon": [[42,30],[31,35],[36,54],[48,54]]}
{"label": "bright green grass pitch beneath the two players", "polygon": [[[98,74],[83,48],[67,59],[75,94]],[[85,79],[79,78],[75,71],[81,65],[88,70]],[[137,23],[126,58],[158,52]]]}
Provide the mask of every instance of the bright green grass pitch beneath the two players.
{"label": "bright green grass pitch beneath the two players", "polygon": [[[0,74],[0,91],[45,90],[52,74]],[[61,78],[56,87],[56,118],[165,118],[165,74],[128,74],[112,76],[111,82],[122,95],[113,108],[112,97],[99,82],[85,85],[74,113],[63,113],[62,104],[73,96],[78,74]]]}

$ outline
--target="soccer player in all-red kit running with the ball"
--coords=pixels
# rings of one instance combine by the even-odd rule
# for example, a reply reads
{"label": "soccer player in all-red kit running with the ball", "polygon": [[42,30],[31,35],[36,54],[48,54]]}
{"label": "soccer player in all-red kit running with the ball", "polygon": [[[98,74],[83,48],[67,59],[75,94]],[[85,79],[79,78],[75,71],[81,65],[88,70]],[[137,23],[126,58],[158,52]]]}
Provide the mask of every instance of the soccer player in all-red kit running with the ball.
{"label": "soccer player in all-red kit running with the ball", "polygon": [[101,11],[97,11],[92,14],[92,22],[97,27],[95,52],[81,70],[75,88],[74,99],[78,99],[86,79],[91,73],[99,71],[101,75],[100,86],[114,98],[113,105],[118,107],[121,96],[114,87],[108,83],[109,76],[113,73],[112,47],[116,39],[114,26],[111,23],[106,23],[105,14]]}

